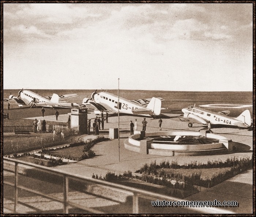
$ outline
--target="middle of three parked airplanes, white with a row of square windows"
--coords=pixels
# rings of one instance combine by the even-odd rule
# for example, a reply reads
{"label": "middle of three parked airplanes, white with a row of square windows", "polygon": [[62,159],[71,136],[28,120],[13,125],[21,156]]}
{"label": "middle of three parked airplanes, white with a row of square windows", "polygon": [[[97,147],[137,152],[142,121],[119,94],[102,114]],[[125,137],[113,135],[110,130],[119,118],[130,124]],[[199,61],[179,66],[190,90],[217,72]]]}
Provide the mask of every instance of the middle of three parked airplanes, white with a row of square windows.
{"label": "middle of three parked airplanes, white with a row of square windows", "polygon": [[[139,115],[139,116],[158,116],[161,113],[161,105],[163,98],[148,98],[140,100],[127,100],[125,98],[108,93],[108,92],[94,92],[91,95],[91,99],[94,100],[95,106],[97,106],[98,111],[95,111],[95,114],[98,115],[98,112],[110,112],[110,113],[124,113],[130,115]],[[84,99],[83,102],[90,102],[91,100]]]}

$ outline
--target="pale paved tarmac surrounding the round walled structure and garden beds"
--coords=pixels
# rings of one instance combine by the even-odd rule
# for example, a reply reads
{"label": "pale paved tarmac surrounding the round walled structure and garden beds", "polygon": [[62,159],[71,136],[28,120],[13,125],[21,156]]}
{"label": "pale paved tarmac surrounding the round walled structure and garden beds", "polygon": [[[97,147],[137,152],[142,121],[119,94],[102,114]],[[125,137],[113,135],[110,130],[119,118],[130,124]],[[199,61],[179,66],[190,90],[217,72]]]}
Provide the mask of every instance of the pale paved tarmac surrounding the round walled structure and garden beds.
{"label": "pale paved tarmac surrounding the round walled structure and garden beds", "polygon": [[[55,116],[31,117],[29,119],[45,119],[47,121],[56,121]],[[88,114],[88,118],[95,118],[93,113]],[[60,115],[58,122],[66,122],[68,114]],[[125,171],[132,171],[134,173],[145,163],[151,163],[156,160],[157,163],[162,160],[169,160],[170,162],[177,161],[178,164],[190,163],[197,160],[197,162],[207,163],[208,160],[222,160],[223,162],[228,158],[244,158],[253,155],[253,131],[248,129],[238,128],[212,128],[214,133],[221,134],[233,142],[239,143],[241,149],[236,153],[225,155],[207,155],[207,156],[158,156],[146,155],[126,150],[124,148],[124,140],[128,138],[129,123],[135,119],[139,122],[139,130],[142,130],[143,117],[134,116],[120,116],[120,139],[118,148],[118,139],[112,139],[106,142],[96,144],[92,149],[96,156],[91,159],[79,161],[78,163],[70,163],[62,166],[57,166],[54,169],[60,171],[67,171],[69,173],[79,174],[85,177],[94,175],[101,175],[102,177],[108,172],[112,171],[116,174],[123,174]],[[158,119],[146,118],[148,121],[146,132],[159,131]],[[108,137],[109,128],[118,128],[118,117],[109,117],[109,123],[105,123],[104,130],[99,131],[100,135]],[[187,123],[173,121],[172,119],[163,119],[162,131],[172,130],[188,130],[199,131],[204,128],[201,124],[194,124],[189,128]],[[82,135],[81,135],[82,136]],[[88,135],[84,135],[84,139]],[[91,138],[91,136],[90,136]],[[119,160],[118,160],[119,157]],[[234,213],[252,213],[253,205],[253,171],[248,170],[246,173],[239,174],[227,181],[220,183],[210,189],[193,194],[188,200],[211,200],[217,199],[219,201],[238,201],[238,208],[228,208]]]}

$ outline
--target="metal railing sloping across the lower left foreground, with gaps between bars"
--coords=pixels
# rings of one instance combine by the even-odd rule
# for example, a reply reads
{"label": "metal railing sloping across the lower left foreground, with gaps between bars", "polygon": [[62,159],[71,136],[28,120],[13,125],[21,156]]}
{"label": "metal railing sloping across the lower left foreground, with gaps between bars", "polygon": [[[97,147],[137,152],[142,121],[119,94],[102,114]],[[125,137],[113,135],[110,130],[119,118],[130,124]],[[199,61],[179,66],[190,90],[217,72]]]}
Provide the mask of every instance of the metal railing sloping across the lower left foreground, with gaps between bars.
{"label": "metal railing sloping across the lower left foreground, with gaps between bars", "polygon": [[[3,206],[5,210],[10,210],[9,213],[47,213],[47,211],[49,213],[49,210],[45,210],[49,208],[52,208],[55,213],[56,210],[59,211],[58,213],[69,213],[69,210],[72,213],[98,214],[124,212],[118,208],[125,209],[127,213],[140,213],[153,208],[152,200],[185,201],[6,157],[4,157],[3,168]],[[26,179],[23,178],[24,176]],[[33,182],[30,182],[30,179]],[[42,179],[44,179],[43,182]],[[55,188],[52,185],[55,185]],[[12,187],[13,193],[10,193],[10,187]],[[55,189],[58,189],[57,192],[53,192]],[[29,193],[24,193],[24,191]],[[28,199],[26,198],[27,194],[35,194],[37,198],[33,200],[30,195]],[[39,198],[44,198],[44,200],[41,199],[40,201]],[[146,203],[140,201],[143,199],[148,201]],[[43,204],[46,203],[47,206],[42,208]],[[58,203],[58,205],[54,203]],[[41,209],[39,209],[40,207]],[[171,213],[233,213],[226,209],[214,207],[189,206],[170,209],[172,210]],[[156,213],[157,210],[159,209],[155,209],[153,213]]]}

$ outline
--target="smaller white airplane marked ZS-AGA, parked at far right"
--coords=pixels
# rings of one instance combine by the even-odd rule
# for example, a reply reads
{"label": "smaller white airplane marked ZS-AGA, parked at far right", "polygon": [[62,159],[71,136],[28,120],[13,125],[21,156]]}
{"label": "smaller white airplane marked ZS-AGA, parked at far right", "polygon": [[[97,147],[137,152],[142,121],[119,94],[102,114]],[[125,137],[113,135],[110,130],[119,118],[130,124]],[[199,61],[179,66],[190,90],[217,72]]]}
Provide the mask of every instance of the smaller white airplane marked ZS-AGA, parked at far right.
{"label": "smaller white airplane marked ZS-AGA, parked at far right", "polygon": [[187,121],[188,127],[192,127],[193,123],[200,124],[221,124],[229,126],[237,126],[238,128],[248,128],[251,126],[251,114],[248,109],[241,113],[238,117],[228,117],[230,111],[212,112],[196,106],[188,106],[181,110],[184,113],[181,121]]}

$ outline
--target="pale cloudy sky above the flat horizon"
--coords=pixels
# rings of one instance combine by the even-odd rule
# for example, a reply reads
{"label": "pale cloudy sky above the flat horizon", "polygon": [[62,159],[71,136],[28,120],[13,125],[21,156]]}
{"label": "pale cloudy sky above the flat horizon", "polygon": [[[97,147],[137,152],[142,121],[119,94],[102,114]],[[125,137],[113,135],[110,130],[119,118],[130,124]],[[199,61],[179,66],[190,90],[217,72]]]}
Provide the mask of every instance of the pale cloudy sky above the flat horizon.
{"label": "pale cloudy sky above the flat horizon", "polygon": [[4,3],[3,89],[253,90],[252,3]]}

